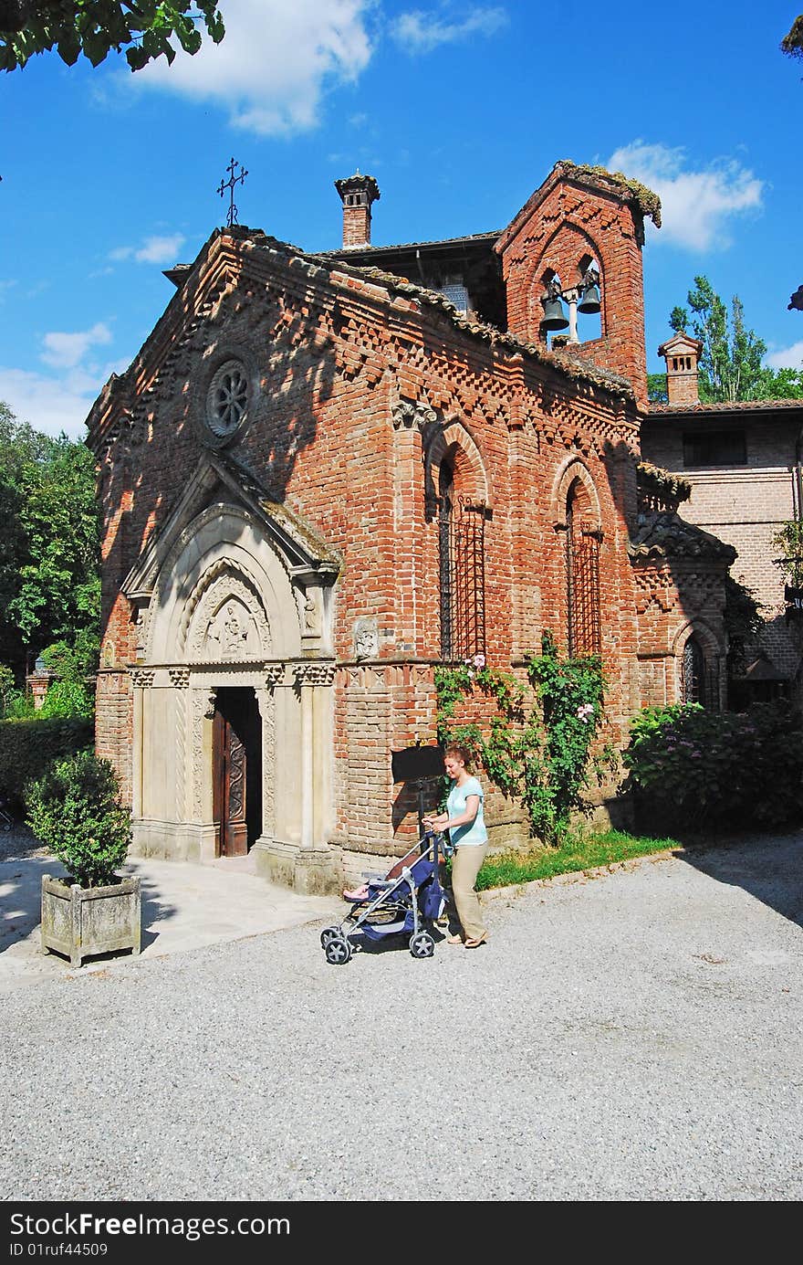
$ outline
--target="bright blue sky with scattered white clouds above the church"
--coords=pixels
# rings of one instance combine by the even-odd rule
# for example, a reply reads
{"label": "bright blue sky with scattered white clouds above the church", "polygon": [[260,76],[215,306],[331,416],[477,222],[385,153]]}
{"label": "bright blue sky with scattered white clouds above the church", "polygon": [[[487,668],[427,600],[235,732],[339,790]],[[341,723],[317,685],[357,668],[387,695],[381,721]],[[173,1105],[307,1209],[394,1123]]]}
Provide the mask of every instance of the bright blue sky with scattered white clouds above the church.
{"label": "bright blue sky with scattered white clouds above the church", "polygon": [[376,244],[503,228],[559,158],[650,185],[647,366],[697,273],[776,367],[803,363],[798,3],[221,0],[228,34],[132,75],[54,54],[0,76],[0,400],[72,435],[224,223],[340,244],[333,181],[376,176]]}

